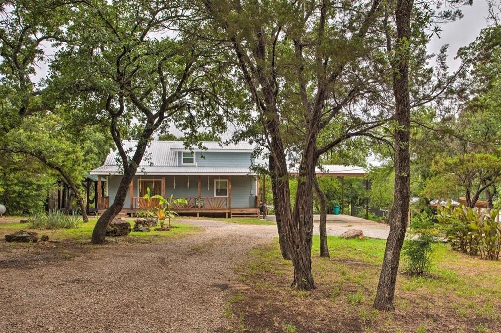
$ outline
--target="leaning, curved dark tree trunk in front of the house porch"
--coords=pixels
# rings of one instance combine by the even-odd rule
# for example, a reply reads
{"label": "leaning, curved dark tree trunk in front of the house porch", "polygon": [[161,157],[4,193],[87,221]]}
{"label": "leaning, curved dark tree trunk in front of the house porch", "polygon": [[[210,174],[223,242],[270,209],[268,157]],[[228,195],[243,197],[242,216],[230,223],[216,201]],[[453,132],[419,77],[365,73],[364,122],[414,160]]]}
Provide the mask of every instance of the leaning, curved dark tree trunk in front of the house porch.
{"label": "leaning, curved dark tree trunk in front of the house porch", "polygon": [[[148,140],[154,131],[154,127],[145,126],[143,135],[141,139],[137,142],[136,151],[134,156],[130,159],[127,168],[124,169],[124,174],[122,180],[120,180],[120,185],[118,186],[115,200],[113,203],[104,211],[104,213],[99,217],[92,232],[92,243],[102,244],[104,243],[106,236],[106,229],[111,220],[122,210],[125,202],[127,193],[129,192],[129,185],[136,174],[136,170],[139,163],[143,159],[144,152],[148,145]],[[119,144],[118,142],[116,142]]]}

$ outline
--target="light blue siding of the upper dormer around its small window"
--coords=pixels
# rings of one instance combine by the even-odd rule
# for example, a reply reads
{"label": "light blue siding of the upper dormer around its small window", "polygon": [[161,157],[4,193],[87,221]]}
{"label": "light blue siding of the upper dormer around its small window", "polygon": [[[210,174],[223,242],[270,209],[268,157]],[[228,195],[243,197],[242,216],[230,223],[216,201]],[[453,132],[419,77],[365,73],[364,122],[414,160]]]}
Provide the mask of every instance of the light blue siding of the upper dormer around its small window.
{"label": "light blue siding of the upper dormer around its small window", "polygon": [[[205,158],[203,158],[203,157]],[[183,166],[249,166],[250,152],[195,151],[195,164],[182,164],[181,151],[177,152],[177,165]]]}

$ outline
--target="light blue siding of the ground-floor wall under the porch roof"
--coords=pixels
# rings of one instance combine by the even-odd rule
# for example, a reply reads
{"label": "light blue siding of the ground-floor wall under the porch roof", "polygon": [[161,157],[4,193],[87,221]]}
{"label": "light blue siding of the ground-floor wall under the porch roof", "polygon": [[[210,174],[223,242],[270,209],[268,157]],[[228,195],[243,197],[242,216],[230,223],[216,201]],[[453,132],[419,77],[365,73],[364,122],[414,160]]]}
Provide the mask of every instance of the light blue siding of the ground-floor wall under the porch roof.
{"label": "light blue siding of the ground-floor wall under the porch roof", "polygon": [[[116,192],[120,184],[121,175],[108,176],[108,196],[110,204],[115,200]],[[176,186],[174,188],[174,178]],[[214,196],[214,179],[228,179],[228,176],[206,176],[200,177],[200,195]],[[162,179],[161,175],[155,176],[134,176],[133,178],[133,196],[137,197],[138,179]],[[189,179],[189,188],[188,188]],[[208,181],[208,184],[207,184]],[[197,197],[198,176],[165,176],[165,196],[171,194],[174,197]],[[231,207],[249,207],[249,196],[256,195],[257,178],[255,176],[231,176]],[[252,191],[252,194],[251,194]],[[129,190],[124,202],[124,208],[130,208]]]}

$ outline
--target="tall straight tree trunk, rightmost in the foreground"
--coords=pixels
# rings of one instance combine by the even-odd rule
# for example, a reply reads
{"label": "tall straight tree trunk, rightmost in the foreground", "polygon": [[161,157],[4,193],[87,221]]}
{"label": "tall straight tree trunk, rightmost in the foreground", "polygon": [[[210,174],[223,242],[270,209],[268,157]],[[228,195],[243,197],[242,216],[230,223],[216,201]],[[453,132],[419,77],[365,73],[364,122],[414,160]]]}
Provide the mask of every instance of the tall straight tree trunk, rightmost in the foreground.
{"label": "tall straight tree trunk, rightmost in the foreground", "polygon": [[374,300],[374,307],[382,310],[395,308],[395,282],[400,261],[400,250],[407,227],[409,209],[409,89],[408,89],[408,50],[406,40],[410,39],[410,13],[413,0],[397,0],[395,10],[397,25],[397,45],[392,64],[393,92],[395,95],[395,120],[397,127],[394,134],[395,146],[395,193],[391,210],[390,234],[386,241],[383,265]]}

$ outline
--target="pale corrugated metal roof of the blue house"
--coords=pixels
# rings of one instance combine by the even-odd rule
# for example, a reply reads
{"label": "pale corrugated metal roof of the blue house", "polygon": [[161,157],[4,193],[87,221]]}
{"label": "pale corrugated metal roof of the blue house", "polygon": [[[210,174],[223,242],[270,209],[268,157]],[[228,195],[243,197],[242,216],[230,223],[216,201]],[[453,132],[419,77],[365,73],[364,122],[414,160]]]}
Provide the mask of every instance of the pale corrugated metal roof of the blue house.
{"label": "pale corrugated metal roof of the blue house", "polygon": [[[135,151],[137,141],[126,140],[122,142],[125,152],[129,157]],[[220,145],[215,141],[202,141],[202,145],[207,147],[205,151],[253,151],[249,144],[228,144]],[[248,167],[235,166],[184,166],[176,165],[176,151],[187,150],[184,148],[183,141],[151,141],[146,148],[144,157],[139,163],[136,174],[205,174],[205,175],[246,175],[254,174]],[[193,149],[200,150],[200,149]],[[122,174],[117,160],[120,161],[118,151],[110,151],[104,161],[104,164],[92,170],[90,174]]]}

